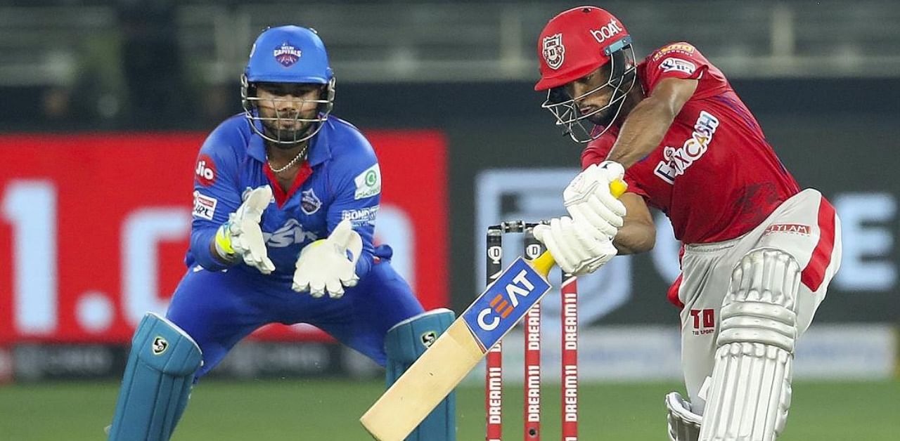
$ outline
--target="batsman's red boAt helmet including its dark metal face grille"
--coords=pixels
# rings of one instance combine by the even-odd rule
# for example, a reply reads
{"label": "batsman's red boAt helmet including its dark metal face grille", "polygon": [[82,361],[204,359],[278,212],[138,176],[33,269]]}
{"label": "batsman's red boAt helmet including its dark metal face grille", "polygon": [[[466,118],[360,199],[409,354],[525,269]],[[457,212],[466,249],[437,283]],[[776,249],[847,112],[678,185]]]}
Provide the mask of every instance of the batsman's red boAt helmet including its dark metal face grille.
{"label": "batsman's red boAt helmet including its dark metal face grille", "polygon": [[[556,125],[563,126],[576,142],[588,142],[605,133],[617,119],[627,94],[636,83],[635,50],[622,22],[595,6],[564,11],[550,20],[541,32],[537,54],[541,79],[535,84],[535,90],[547,91],[547,100],[542,107],[554,114]],[[563,90],[565,84],[607,64],[610,75],[606,84],[576,97]],[[608,104],[582,113],[579,101],[605,87],[614,91]]]}

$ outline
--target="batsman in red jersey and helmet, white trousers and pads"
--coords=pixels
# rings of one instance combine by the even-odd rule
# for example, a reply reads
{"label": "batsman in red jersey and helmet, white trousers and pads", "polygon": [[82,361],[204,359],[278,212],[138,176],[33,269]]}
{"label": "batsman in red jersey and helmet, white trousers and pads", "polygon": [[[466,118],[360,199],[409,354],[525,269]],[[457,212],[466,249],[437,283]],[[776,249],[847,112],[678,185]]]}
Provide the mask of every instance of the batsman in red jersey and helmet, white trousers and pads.
{"label": "batsman in red jersey and helmet, white trousers and pads", "polygon": [[[543,107],[587,143],[564,191],[570,216],[536,228],[566,271],[653,248],[648,207],[683,243],[680,308],[688,396],[665,397],[669,438],[773,440],[788,418],[797,339],[841,262],[841,222],[801,190],[716,66],[678,41],[638,61],[625,25],[581,6],[537,41]],[[613,198],[608,182],[623,179]],[[613,238],[613,243],[609,243]]]}

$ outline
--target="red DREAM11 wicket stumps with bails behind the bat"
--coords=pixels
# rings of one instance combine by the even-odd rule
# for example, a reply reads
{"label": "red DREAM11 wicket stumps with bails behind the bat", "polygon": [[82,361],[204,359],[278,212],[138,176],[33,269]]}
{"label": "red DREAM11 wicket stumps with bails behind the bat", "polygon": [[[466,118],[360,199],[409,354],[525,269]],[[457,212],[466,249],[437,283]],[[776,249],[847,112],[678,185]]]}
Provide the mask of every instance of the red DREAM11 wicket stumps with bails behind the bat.
{"label": "red DREAM11 wicket stumps with bails behind the bat", "polygon": [[[503,234],[525,234],[526,259],[535,259],[543,245],[533,233],[537,224],[503,222],[488,227],[487,284],[503,271]],[[563,274],[562,298],[562,426],[563,441],[578,439],[578,294],[575,277]],[[500,309],[503,305],[498,305]],[[541,305],[535,304],[525,319],[524,439],[541,439]],[[503,432],[503,342],[488,351],[485,369],[486,441],[500,441]]]}

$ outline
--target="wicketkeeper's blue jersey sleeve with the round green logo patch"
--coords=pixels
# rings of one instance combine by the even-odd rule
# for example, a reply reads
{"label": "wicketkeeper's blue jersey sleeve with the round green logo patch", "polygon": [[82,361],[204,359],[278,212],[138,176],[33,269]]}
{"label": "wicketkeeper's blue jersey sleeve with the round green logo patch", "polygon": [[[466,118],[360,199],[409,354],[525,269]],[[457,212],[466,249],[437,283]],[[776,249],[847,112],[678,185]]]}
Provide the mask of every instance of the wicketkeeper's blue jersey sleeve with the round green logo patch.
{"label": "wicketkeeper's blue jersey sleeve with the round green logo patch", "polygon": [[335,158],[338,164],[332,181],[334,199],[328,208],[329,234],[344,219],[363,239],[363,251],[356,261],[356,276],[365,278],[374,262],[375,216],[382,200],[382,172],[372,146],[362,135],[360,148],[349,149]]}

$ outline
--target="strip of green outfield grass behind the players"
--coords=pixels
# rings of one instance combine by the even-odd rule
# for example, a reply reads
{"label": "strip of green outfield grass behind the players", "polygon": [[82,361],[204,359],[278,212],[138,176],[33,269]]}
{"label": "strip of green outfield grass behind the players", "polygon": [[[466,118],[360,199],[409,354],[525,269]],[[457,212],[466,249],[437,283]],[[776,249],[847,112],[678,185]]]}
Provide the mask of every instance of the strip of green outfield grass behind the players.
{"label": "strip of green outfield grass behind the players", "polygon": [[[662,396],[677,384],[582,384],[581,439],[662,440]],[[99,440],[114,383],[0,386],[0,440]],[[174,440],[369,439],[356,419],[380,384],[344,381],[208,381],[193,392]],[[559,388],[545,386],[545,440],[559,439]],[[504,439],[521,439],[520,387],[507,393]],[[459,391],[460,441],[484,439],[483,392]],[[900,382],[798,383],[784,437],[790,440],[900,439]]]}

